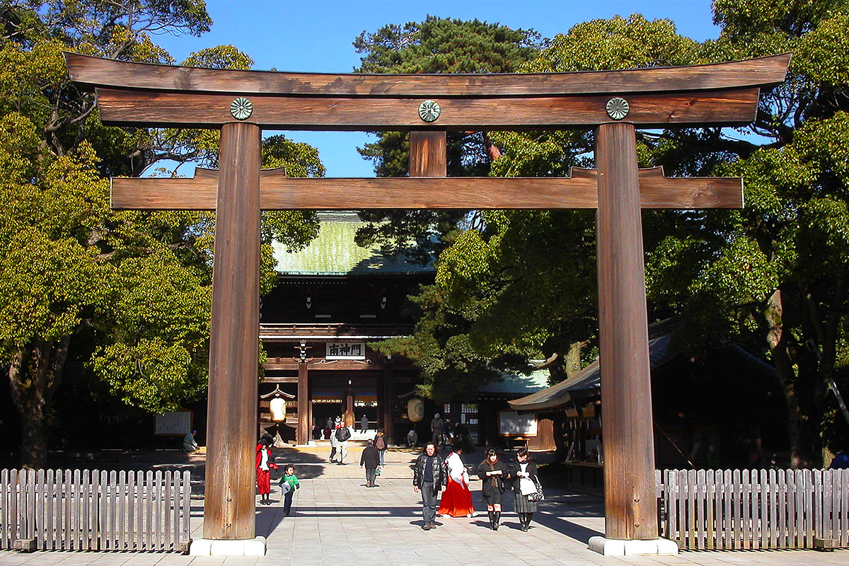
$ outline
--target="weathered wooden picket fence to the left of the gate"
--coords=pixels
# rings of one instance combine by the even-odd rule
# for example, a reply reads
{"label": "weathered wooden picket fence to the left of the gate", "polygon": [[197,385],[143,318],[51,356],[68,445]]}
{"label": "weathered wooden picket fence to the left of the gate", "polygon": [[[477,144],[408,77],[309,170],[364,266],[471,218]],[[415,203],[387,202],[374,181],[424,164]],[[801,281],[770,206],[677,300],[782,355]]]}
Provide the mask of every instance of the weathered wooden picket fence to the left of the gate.
{"label": "weathered wooden picket fence to the left of the gate", "polygon": [[183,552],[188,471],[0,470],[0,549]]}

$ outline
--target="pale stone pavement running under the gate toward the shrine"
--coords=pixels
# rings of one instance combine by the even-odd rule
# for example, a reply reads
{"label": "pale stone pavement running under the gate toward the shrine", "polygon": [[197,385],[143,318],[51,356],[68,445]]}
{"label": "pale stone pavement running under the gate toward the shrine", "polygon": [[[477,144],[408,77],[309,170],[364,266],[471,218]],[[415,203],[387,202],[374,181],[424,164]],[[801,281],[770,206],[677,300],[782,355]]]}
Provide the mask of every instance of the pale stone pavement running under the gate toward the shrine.
{"label": "pale stone pavement running under the gate toward the shrine", "polygon": [[[301,479],[295,506],[285,517],[279,488],[271,506],[258,506],[256,534],[267,537],[265,557],[190,557],[131,552],[0,552],[0,566],[492,566],[633,564],[634,566],[790,566],[849,564],[849,551],[683,552],[677,557],[603,557],[587,549],[590,536],[604,532],[598,497],[546,490],[529,532],[519,530],[512,502],[505,502],[503,526],[489,529],[486,513],[477,518],[437,519],[439,528],[421,530],[421,503],[411,485],[412,451],[387,454],[378,487],[367,489],[359,468],[361,447],[349,451],[345,466],[329,464],[329,449],[278,451],[278,463],[292,462]],[[481,453],[464,457],[475,463]],[[480,482],[473,481],[475,507],[481,509]],[[508,496],[508,500],[510,497]],[[202,532],[202,500],[192,507],[194,536]]]}

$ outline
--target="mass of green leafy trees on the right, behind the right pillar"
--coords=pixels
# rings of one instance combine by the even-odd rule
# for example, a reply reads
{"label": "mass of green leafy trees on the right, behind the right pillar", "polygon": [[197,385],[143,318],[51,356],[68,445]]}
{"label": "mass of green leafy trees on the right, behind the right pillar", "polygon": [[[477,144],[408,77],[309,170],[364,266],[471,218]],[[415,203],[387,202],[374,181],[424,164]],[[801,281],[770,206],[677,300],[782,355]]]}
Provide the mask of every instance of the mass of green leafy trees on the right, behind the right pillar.
{"label": "mass of green leafy trees on the right, behind the right pillar", "polygon": [[[787,401],[791,464],[818,465],[820,448],[846,442],[826,387],[830,378],[846,383],[849,360],[849,6],[716,0],[714,12],[722,26],[716,40],[699,44],[678,36],[672,22],[637,14],[593,20],[556,36],[520,70],[698,64],[793,52],[788,80],[762,92],[751,126],[638,132],[638,160],[663,165],[672,176],[744,177],[744,210],[644,213],[650,316],[683,313],[690,340],[737,339],[771,361]],[[593,132],[490,137],[501,153],[492,175],[562,176],[571,165],[593,162]],[[456,330],[467,337],[469,358],[481,364],[515,352],[542,355],[565,371],[567,345],[582,329],[590,329],[588,336],[596,328],[593,219],[582,212],[555,216],[496,211],[476,217],[441,254],[437,287],[422,294],[430,298],[422,303],[422,322],[396,347],[450,359],[446,331]],[[441,311],[462,324],[440,326],[447,320]],[[441,378],[431,390],[441,389]]]}

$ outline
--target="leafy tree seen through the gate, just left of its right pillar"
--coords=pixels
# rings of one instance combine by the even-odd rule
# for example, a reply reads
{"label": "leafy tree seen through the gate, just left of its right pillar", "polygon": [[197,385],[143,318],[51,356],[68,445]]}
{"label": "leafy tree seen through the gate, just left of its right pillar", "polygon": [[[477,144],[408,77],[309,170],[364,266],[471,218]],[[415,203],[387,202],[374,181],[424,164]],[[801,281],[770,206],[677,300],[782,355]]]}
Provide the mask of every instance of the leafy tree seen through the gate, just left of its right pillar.
{"label": "leafy tree seen through the gate, just left of its right pillar", "polygon": [[[687,64],[697,47],[678,36],[668,20],[649,22],[638,15],[593,20],[555,36],[520,70]],[[490,132],[489,137],[500,155],[492,162],[495,177],[566,177],[573,165],[593,163],[593,132]],[[445,380],[458,384],[450,392],[480,382],[479,375],[464,375],[464,367],[453,363],[463,356],[481,366],[518,369],[531,369],[529,358],[543,358],[537,366],[547,367],[553,381],[579,370],[597,328],[594,215],[494,210],[467,220],[439,257],[436,288],[423,293],[429,308],[416,332],[385,347],[441,359],[441,373],[424,372],[437,394],[447,389],[441,386]],[[444,320],[453,323],[441,326]],[[464,348],[456,351],[454,333],[464,336]]]}

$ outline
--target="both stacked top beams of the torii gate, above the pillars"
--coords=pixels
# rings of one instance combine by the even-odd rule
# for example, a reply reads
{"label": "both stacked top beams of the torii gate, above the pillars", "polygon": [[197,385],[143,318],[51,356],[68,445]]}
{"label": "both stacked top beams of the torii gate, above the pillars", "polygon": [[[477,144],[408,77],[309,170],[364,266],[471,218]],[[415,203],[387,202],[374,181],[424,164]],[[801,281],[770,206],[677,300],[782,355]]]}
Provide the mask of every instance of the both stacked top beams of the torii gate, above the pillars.
{"label": "both stacked top beams of the torii gate, above the pillars", "polygon": [[[233,121],[231,104],[239,97],[250,113],[238,120],[262,128],[367,131],[564,129],[617,120],[639,127],[744,125],[755,119],[760,88],[784,81],[790,62],[784,54],[576,73],[312,75],[65,58],[71,79],[95,88],[104,123],[217,128]],[[620,106],[611,112],[614,100]],[[437,105],[428,119],[420,114],[426,101]]]}

